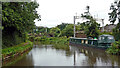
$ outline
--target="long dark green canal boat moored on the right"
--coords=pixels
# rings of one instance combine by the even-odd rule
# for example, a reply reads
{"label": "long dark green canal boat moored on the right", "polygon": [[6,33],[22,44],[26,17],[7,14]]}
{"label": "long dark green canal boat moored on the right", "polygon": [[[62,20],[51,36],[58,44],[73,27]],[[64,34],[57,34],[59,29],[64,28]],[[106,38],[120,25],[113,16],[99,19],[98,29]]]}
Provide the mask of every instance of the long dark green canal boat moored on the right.
{"label": "long dark green canal boat moored on the right", "polygon": [[112,35],[100,35],[98,39],[71,37],[69,42],[70,45],[107,49],[115,42],[115,39]]}

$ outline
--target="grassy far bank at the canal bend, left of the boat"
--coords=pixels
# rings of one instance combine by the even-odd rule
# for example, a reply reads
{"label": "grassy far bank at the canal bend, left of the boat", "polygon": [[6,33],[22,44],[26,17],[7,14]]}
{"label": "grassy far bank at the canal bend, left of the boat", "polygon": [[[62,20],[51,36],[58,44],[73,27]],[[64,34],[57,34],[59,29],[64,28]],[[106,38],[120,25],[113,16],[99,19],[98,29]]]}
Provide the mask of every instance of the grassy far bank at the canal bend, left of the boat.
{"label": "grassy far bank at the canal bend, left of the boat", "polygon": [[35,41],[43,44],[52,44],[56,49],[69,50],[69,38],[67,37],[36,37]]}

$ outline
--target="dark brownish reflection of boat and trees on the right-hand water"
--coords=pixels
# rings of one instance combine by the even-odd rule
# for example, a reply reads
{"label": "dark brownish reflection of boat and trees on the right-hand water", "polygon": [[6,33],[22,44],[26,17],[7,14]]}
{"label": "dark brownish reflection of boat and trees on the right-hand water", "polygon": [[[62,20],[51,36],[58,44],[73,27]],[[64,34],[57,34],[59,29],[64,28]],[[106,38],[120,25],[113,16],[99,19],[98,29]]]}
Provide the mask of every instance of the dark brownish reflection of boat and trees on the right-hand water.
{"label": "dark brownish reflection of boat and trees on the right-hand water", "polygon": [[[119,59],[118,56],[106,54],[103,50],[92,49],[92,48],[83,48],[83,47],[74,47],[77,54],[84,54],[85,62],[81,62],[83,65],[88,66],[118,66]],[[80,58],[80,56],[77,56]],[[81,64],[80,63],[80,64]]]}

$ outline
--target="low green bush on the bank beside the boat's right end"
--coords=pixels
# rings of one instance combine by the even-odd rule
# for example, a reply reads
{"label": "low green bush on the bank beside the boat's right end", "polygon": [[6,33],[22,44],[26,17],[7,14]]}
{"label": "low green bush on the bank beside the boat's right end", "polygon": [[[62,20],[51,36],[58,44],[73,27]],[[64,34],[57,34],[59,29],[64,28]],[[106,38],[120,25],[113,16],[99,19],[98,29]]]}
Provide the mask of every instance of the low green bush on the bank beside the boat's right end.
{"label": "low green bush on the bank beside the boat's right end", "polygon": [[116,41],[110,48],[106,50],[107,53],[113,55],[120,55],[120,41]]}

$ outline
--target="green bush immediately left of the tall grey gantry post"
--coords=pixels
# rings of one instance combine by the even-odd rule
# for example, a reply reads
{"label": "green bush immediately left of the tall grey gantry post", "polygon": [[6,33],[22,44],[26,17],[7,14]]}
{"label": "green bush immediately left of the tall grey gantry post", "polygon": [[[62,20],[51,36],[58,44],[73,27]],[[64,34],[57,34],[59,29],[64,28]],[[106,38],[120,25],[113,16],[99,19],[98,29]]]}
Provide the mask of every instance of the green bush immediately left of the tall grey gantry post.
{"label": "green bush immediately left of the tall grey gantry post", "polygon": [[67,37],[73,36],[73,25],[72,24],[67,25],[66,28],[62,30],[61,36]]}

